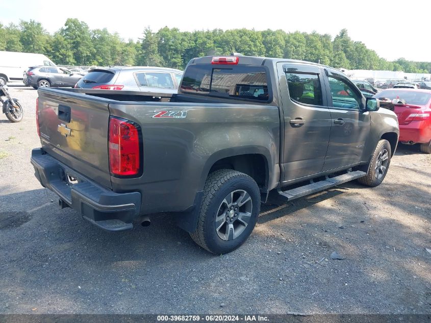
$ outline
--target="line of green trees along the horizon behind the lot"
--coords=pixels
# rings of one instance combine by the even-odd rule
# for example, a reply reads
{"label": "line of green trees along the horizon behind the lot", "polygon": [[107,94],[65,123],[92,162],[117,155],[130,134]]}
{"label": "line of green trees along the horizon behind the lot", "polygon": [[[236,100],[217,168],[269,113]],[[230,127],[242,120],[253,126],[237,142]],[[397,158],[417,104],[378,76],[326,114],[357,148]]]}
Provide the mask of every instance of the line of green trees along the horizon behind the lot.
{"label": "line of green trees along the horizon behind the lot", "polygon": [[387,61],[360,41],[353,41],[346,29],[332,39],[317,32],[287,33],[282,30],[234,29],[181,32],[178,28],[149,27],[142,38],[124,40],[117,33],[90,29],[84,21],[68,18],[60,30],[49,34],[40,22],[30,20],[4,26],[0,23],[0,51],[41,53],[59,65],[140,65],[184,69],[194,57],[229,55],[238,52],[320,62],[346,69],[392,70],[431,73],[431,62],[404,58]]}

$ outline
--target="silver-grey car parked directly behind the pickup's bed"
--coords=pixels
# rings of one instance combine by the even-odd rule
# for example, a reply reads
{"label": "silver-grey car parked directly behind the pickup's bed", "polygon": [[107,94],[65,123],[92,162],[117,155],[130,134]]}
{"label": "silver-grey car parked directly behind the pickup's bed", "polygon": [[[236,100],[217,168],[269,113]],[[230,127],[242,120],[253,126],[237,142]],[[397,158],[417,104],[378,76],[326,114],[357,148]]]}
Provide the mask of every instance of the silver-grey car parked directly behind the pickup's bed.
{"label": "silver-grey car parked directly behind the pickup's bed", "polygon": [[162,67],[115,66],[90,69],[76,88],[176,93],[183,72]]}

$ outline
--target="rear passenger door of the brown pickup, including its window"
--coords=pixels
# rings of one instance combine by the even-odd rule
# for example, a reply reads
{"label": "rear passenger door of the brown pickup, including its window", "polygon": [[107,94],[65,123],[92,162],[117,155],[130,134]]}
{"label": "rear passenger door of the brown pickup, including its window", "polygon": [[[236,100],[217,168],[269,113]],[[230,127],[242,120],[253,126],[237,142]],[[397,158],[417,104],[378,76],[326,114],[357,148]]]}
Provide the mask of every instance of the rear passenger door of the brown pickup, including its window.
{"label": "rear passenger door of the brown pickup, including its window", "polygon": [[321,171],[331,133],[322,70],[312,64],[277,63],[284,114],[283,182]]}

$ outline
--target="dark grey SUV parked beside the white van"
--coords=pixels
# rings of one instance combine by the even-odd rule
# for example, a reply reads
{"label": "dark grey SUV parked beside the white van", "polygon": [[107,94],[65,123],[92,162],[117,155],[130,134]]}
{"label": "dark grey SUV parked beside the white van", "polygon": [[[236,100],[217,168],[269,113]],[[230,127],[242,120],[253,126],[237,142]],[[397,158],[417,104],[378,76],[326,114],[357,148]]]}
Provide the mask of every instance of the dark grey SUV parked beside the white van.
{"label": "dark grey SUV parked beside the white van", "polygon": [[57,66],[30,67],[23,76],[24,84],[35,89],[39,87],[74,87],[81,78],[82,75]]}

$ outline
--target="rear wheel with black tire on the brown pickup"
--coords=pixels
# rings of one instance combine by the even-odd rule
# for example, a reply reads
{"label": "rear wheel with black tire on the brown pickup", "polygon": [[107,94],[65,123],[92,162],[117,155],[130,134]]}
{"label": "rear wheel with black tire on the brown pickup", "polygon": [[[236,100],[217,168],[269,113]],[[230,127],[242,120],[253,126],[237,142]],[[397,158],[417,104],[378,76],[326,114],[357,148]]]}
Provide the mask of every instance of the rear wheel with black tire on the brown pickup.
{"label": "rear wheel with black tire on the brown pickup", "polygon": [[[228,196],[230,196],[233,206],[227,204]],[[235,204],[234,201],[239,204]],[[240,205],[242,202],[244,203]],[[247,210],[243,208],[247,208]],[[238,211],[235,211],[237,209]],[[251,177],[232,169],[216,170],[208,176],[205,182],[197,228],[190,236],[194,242],[213,254],[229,253],[243,244],[251,234],[259,212],[260,191]],[[248,213],[250,215],[245,216]],[[219,223],[221,226],[217,230],[216,219],[220,217],[227,220],[219,220],[217,226]],[[248,220],[246,221],[246,219]],[[224,222],[222,223],[222,221]],[[223,226],[225,227],[223,228]],[[235,230],[237,230],[236,233]],[[227,234],[227,238],[226,235],[224,238],[220,236],[222,232]],[[238,236],[234,237],[235,234]]]}

